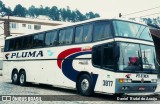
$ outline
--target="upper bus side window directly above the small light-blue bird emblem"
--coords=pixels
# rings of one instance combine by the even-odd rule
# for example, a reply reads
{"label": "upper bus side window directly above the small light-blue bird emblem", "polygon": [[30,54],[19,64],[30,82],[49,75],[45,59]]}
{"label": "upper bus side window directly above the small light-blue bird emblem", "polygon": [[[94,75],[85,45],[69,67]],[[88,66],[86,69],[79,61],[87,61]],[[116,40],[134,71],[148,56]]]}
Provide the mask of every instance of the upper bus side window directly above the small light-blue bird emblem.
{"label": "upper bus side window directly above the small light-blue bird emblem", "polygon": [[46,33],[45,45],[52,46],[57,43],[57,31],[51,31]]}

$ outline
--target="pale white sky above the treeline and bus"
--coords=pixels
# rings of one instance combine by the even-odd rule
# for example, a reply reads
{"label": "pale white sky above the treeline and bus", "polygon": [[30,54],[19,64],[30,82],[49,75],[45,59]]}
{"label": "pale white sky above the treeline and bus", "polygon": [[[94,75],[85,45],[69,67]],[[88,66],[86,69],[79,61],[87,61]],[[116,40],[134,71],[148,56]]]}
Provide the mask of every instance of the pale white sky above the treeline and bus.
{"label": "pale white sky above the treeline and bus", "polygon": [[146,18],[155,18],[160,16],[160,0],[2,0],[6,7],[11,7],[13,10],[17,4],[28,8],[31,5],[39,7],[57,6],[58,8],[70,7],[71,10],[78,9],[82,13],[92,11],[99,13],[101,17],[118,17],[122,15],[138,12],[150,8],[158,7],[146,12],[141,12],[125,17],[141,17],[149,14],[159,13],[157,15],[146,16]]}

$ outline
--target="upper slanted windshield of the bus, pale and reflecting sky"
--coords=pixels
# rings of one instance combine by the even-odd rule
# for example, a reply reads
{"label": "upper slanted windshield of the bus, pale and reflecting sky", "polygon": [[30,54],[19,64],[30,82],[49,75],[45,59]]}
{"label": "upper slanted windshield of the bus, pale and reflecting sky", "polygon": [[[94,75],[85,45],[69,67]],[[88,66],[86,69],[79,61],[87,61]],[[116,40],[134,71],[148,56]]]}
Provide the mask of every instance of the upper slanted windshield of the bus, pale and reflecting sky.
{"label": "upper slanted windshield of the bus, pale and reflecting sky", "polygon": [[115,36],[153,41],[149,28],[145,25],[125,21],[113,21]]}

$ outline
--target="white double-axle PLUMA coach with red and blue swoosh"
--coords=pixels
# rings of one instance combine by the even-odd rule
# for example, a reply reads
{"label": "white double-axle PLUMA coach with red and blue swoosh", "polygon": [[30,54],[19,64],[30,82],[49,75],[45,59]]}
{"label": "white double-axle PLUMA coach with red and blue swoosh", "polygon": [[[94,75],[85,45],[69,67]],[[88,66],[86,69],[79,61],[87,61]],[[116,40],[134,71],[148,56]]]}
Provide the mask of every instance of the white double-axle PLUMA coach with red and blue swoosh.
{"label": "white double-axle PLUMA coach with red and blue swoosh", "polygon": [[80,95],[155,92],[157,61],[147,25],[96,18],[7,37],[3,70],[13,84],[76,89]]}

